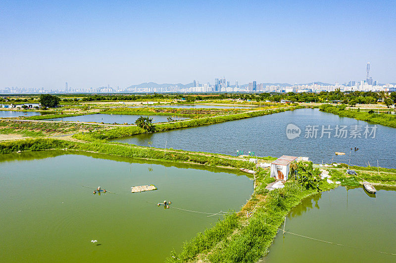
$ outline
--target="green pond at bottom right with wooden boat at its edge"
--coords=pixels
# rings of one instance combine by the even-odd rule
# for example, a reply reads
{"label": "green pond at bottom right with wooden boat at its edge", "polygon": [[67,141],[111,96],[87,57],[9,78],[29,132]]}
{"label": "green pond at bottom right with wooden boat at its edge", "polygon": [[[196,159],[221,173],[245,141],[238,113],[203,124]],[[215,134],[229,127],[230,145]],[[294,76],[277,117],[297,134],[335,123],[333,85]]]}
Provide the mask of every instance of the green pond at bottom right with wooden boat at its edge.
{"label": "green pond at bottom right with wooden boat at its edge", "polygon": [[260,262],[396,262],[395,255],[379,253],[396,254],[396,191],[377,187],[371,196],[339,187],[303,200],[285,230],[345,246],[279,231]]}

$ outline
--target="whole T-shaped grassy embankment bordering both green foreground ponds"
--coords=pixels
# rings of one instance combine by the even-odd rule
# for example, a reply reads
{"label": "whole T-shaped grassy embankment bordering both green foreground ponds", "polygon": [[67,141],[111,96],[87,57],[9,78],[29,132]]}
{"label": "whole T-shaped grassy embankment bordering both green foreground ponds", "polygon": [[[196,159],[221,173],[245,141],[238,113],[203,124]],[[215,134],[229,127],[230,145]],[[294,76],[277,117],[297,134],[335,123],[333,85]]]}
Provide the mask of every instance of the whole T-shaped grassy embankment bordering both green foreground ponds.
{"label": "whole T-shaped grassy embankment bordering both green foreground ponds", "polygon": [[[0,153],[64,148],[123,157],[253,169],[253,164],[247,161],[220,158],[215,155],[206,156],[186,151],[167,152],[165,155],[163,150],[152,148],[79,143],[54,139],[31,139],[0,143]],[[375,167],[352,168],[362,171],[375,170]],[[332,180],[345,176],[346,168],[330,170],[332,171]],[[370,179],[396,182],[396,169],[380,168],[380,171],[383,172],[380,173],[380,177],[373,176]],[[242,210],[238,213],[231,212],[212,228],[207,228],[203,233],[198,233],[195,238],[183,245],[180,253],[172,252],[167,262],[256,262],[268,252],[278,228],[293,207],[302,199],[317,193],[318,189],[324,191],[336,187],[336,185],[330,185],[322,180],[318,182],[318,189],[303,188],[297,181],[290,180],[285,184],[285,188],[268,192],[265,186],[272,181],[273,179],[269,177],[269,169],[258,169],[256,188]],[[246,218],[246,212],[252,212],[249,219]]]}

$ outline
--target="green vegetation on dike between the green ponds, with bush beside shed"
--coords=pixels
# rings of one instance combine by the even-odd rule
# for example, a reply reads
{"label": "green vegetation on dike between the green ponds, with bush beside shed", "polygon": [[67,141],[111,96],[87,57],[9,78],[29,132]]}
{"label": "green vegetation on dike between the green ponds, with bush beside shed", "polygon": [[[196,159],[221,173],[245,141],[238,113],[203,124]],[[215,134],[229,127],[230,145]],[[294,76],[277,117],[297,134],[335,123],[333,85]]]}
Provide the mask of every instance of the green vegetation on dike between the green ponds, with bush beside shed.
{"label": "green vegetation on dike between the green ponds, with bush beside shed", "polygon": [[[307,174],[316,173],[309,163],[301,163],[297,170],[302,173],[301,169]],[[257,187],[239,213],[238,222],[230,225],[217,223],[212,228],[216,234],[209,231],[210,229],[198,233],[197,237],[184,244],[181,253],[171,252],[171,257],[166,262],[253,263],[263,257],[289,211],[303,198],[317,193],[318,190],[301,188],[300,183],[295,180],[286,182],[285,188],[268,192],[265,189],[265,181],[269,179],[268,169],[260,170],[257,175]],[[326,181],[317,183],[321,190],[335,187]],[[246,219],[245,211],[253,213],[249,219]],[[228,215],[225,220],[230,220],[231,216],[235,217],[234,214]],[[227,235],[227,232],[231,234]]]}

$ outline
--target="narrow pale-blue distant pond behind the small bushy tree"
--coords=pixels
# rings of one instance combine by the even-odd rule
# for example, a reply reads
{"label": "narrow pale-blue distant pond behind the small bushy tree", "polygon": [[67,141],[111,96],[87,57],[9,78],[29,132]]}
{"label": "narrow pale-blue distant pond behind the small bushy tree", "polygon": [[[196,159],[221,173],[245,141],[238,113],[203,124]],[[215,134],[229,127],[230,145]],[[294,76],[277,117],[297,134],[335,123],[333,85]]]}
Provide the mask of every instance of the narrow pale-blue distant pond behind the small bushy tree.
{"label": "narrow pale-blue distant pond behind the small bushy tree", "polygon": [[[142,115],[121,115],[121,114],[88,114],[81,116],[73,116],[73,117],[61,117],[61,118],[53,118],[47,120],[57,120],[57,121],[80,121],[80,122],[103,122],[103,123],[129,123],[133,124],[135,121]],[[153,119],[153,122],[166,122],[169,115],[143,115],[144,117],[150,117]],[[187,117],[179,117],[174,116],[172,119],[182,120],[187,119]]]}

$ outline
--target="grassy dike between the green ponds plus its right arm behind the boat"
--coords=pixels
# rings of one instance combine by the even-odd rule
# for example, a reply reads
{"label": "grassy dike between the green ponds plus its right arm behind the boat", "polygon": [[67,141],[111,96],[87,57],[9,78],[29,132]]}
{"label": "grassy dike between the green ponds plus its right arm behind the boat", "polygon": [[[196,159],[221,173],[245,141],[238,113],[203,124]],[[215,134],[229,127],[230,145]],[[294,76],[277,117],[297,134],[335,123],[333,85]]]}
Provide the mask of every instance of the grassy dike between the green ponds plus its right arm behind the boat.
{"label": "grassy dike between the green ponds plus its right arm behind the boat", "polygon": [[[347,176],[346,167],[329,169],[333,181],[341,181],[346,186],[359,186],[359,179],[396,186],[396,169],[353,166],[357,176]],[[327,169],[327,168],[326,168]],[[375,172],[375,174],[369,172]],[[181,252],[171,252],[166,263],[239,263],[256,262],[268,253],[268,249],[282,225],[286,215],[302,199],[336,188],[321,180],[316,188],[304,188],[296,180],[289,180],[285,188],[271,192],[265,186],[272,182],[269,169],[259,169],[253,194],[239,213],[225,216],[212,228],[206,228],[192,240],[185,242]],[[247,219],[246,213],[253,212]]]}

